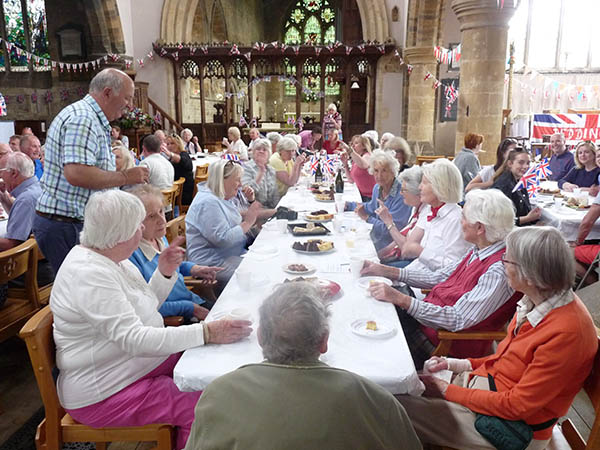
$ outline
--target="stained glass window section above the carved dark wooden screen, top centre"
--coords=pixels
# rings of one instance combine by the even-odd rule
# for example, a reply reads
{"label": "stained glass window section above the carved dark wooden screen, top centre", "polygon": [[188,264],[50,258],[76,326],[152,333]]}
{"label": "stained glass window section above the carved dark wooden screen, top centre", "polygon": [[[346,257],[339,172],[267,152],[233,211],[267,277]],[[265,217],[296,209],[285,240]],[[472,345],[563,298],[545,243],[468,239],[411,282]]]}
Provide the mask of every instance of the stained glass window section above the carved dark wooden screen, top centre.
{"label": "stained glass window section above the carved dark wooden screen, top centre", "polygon": [[298,0],[285,23],[283,42],[287,45],[333,44],[335,14],[329,0]]}

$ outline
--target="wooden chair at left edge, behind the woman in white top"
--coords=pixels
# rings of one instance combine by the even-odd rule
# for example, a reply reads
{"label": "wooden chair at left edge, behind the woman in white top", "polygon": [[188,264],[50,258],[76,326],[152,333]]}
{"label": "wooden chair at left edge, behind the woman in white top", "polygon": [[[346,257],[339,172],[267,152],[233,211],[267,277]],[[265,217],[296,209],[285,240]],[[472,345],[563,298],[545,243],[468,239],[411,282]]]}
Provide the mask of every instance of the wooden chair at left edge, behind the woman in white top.
{"label": "wooden chair at left edge, behind the woman in white top", "polygon": [[25,274],[25,288],[8,289],[6,302],[0,307],[0,342],[16,335],[40,309],[37,260],[35,239],[0,252],[0,284]]}

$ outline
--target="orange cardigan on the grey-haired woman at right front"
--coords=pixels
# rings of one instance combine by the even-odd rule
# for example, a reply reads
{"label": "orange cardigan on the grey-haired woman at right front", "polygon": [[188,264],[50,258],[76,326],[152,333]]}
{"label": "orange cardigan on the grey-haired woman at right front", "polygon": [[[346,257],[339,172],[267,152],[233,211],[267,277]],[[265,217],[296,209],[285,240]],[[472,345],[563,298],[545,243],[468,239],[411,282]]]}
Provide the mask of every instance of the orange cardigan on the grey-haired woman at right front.
{"label": "orange cardigan on the grey-haired woman at right front", "polygon": [[[577,296],[550,311],[534,328],[526,320],[515,336],[516,314],[507,337],[491,356],[469,359],[474,375],[491,374],[497,392],[450,385],[446,400],[474,412],[538,424],[564,416],[589,375],[598,340]],[[534,433],[549,439],[552,427]]]}

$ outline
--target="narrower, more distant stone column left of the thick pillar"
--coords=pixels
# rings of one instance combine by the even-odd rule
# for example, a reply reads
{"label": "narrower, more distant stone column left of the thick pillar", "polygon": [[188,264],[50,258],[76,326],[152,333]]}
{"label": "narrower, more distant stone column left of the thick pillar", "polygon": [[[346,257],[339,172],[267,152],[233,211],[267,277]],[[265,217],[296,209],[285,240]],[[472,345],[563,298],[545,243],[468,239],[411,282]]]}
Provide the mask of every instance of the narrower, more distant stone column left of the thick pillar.
{"label": "narrower, more distant stone column left of the thick pillar", "polygon": [[419,144],[424,153],[433,152],[433,130],[435,123],[435,91],[433,80],[424,80],[427,72],[434,76],[437,61],[429,47],[404,49],[404,58],[413,66],[408,82],[408,120],[406,139]]}

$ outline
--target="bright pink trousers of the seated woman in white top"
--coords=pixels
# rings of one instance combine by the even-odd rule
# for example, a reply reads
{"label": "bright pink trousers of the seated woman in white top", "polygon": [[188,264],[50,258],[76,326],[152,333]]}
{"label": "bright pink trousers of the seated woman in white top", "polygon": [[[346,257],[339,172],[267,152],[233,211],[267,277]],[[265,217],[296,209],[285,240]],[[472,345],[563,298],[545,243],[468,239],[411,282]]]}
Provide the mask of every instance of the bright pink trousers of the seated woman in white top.
{"label": "bright pink trousers of the seated woman in white top", "polygon": [[181,353],[169,356],[152,372],[101,402],[66,411],[77,422],[94,428],[169,423],[177,427],[177,448],[182,449],[202,392],[181,392],[173,383],[180,357]]}

